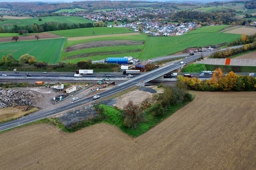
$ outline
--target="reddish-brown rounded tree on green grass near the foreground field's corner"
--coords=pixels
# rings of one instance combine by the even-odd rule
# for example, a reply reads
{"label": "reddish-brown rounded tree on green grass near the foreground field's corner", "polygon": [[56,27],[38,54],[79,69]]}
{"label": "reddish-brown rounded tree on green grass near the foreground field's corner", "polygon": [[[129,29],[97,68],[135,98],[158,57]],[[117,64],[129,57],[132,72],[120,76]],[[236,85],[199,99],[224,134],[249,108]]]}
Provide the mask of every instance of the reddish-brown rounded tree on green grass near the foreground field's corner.
{"label": "reddish-brown rounded tree on green grass near the foreground field's corner", "polygon": [[124,126],[137,129],[137,124],[145,120],[145,114],[139,107],[134,105],[132,100],[124,107]]}

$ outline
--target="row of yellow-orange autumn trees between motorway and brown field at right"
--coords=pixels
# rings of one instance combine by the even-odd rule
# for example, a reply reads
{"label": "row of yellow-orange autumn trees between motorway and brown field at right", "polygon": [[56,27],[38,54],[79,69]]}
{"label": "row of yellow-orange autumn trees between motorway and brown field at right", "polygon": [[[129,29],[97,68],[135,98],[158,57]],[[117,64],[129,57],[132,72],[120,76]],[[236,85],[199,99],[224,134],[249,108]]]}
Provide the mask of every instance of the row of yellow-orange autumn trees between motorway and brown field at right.
{"label": "row of yellow-orange autumn trees between motorway and brown field at right", "polygon": [[178,76],[178,81],[186,84],[188,89],[199,91],[255,91],[256,78],[250,75],[237,75],[233,71],[223,75],[220,68],[216,69],[210,80],[199,80],[196,77]]}

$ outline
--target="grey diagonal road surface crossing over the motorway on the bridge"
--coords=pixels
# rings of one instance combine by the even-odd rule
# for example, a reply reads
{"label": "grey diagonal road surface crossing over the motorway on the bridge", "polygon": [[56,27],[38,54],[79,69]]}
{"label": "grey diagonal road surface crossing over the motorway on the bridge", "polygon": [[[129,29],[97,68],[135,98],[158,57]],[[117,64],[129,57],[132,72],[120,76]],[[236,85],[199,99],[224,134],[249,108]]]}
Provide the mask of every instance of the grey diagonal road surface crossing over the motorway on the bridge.
{"label": "grey diagonal road surface crossing over the motorway on the bridge", "polygon": [[[144,86],[144,83],[154,80],[158,77],[161,77],[164,74],[169,73],[173,70],[180,69],[186,63],[195,61],[199,57],[201,57],[201,56],[194,55],[194,56],[190,56],[190,57],[185,57],[185,58],[183,58],[183,60],[179,60],[177,62],[172,62],[170,64],[166,64],[165,66],[159,67],[158,69],[147,72],[145,74],[140,74],[137,77],[134,77],[127,81],[119,83],[116,86],[114,86],[113,88],[110,88],[108,90],[100,92],[98,95],[100,95],[101,98],[105,98],[105,97],[114,95],[120,91],[129,89],[133,86]],[[185,62],[185,64],[180,64],[181,61]],[[27,124],[30,122],[34,122],[37,120],[41,120],[42,118],[57,115],[62,112],[69,111],[70,109],[82,107],[83,105],[90,104],[93,102],[94,102],[94,100],[92,99],[92,97],[85,97],[85,98],[83,98],[83,100],[78,100],[75,103],[67,105],[67,106],[60,106],[60,107],[57,106],[57,108],[52,109],[51,111],[44,112],[44,109],[41,109],[39,112],[36,112],[34,114],[21,117],[18,120],[14,120],[11,122],[6,122],[6,123],[1,124],[0,131],[11,129],[11,128],[14,128],[14,127],[17,127],[17,126],[20,126],[23,124]]]}

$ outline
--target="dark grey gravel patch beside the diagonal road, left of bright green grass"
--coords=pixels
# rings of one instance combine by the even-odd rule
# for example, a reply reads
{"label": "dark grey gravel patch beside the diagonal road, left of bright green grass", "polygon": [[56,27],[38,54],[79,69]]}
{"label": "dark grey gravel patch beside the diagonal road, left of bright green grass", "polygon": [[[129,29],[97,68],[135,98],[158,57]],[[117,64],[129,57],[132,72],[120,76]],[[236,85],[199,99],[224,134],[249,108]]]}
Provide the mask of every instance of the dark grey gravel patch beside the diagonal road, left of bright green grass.
{"label": "dark grey gravel patch beside the diagonal road, left of bright green grass", "polygon": [[79,122],[86,121],[90,118],[98,116],[97,111],[92,107],[93,105],[81,107],[71,112],[65,113],[60,117],[60,121],[66,128],[69,128]]}

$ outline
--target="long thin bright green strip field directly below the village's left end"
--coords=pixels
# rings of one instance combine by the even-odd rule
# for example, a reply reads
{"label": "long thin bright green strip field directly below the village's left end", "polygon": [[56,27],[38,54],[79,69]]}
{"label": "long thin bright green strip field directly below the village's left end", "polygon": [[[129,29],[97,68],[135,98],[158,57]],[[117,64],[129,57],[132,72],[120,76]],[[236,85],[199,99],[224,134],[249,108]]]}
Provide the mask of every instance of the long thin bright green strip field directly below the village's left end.
{"label": "long thin bright green strip field directly below the village's left end", "polygon": [[111,35],[111,34],[119,34],[119,33],[131,33],[133,31],[127,28],[98,27],[98,28],[80,28],[80,29],[71,29],[71,30],[60,30],[60,31],[51,31],[51,32],[62,37],[85,37],[85,36]]}

